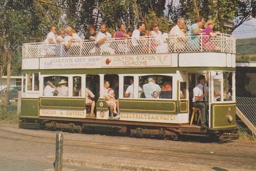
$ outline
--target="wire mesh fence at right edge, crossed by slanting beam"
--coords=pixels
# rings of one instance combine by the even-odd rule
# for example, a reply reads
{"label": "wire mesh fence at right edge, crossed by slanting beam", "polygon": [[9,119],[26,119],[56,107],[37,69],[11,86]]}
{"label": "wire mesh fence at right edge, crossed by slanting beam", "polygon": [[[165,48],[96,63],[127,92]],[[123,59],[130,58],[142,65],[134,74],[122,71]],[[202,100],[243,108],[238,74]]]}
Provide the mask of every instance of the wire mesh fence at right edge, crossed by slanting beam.
{"label": "wire mesh fence at right edge, crossed by slanting beam", "polygon": [[[236,97],[236,106],[241,110],[244,116],[256,127],[256,98]],[[250,132],[247,126],[237,120],[239,132]]]}

